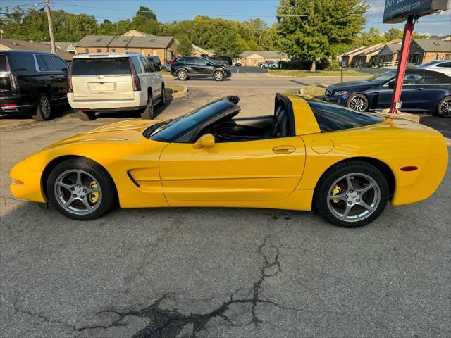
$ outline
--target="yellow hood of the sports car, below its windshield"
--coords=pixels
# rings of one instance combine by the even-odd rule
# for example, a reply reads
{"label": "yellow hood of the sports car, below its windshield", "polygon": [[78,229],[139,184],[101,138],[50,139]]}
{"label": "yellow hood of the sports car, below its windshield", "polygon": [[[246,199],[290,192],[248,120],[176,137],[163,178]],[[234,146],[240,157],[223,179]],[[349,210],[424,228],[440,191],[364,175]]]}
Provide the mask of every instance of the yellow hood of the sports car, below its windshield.
{"label": "yellow hood of the sports car, below its windshield", "polygon": [[78,142],[144,142],[148,141],[142,133],[151,125],[161,122],[161,120],[126,120],[111,125],[104,125],[89,132],[63,139],[51,144],[46,149],[62,146],[65,144],[74,144]]}

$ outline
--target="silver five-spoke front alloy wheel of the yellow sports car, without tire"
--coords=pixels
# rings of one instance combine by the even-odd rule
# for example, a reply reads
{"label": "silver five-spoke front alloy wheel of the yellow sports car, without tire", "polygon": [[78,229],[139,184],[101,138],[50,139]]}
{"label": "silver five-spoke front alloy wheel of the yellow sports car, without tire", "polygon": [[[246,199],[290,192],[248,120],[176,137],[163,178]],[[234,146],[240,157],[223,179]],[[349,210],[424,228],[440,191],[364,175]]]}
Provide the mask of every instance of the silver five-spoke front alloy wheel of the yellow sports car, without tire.
{"label": "silver five-spoke front alloy wheel of the yellow sports car, without tire", "polygon": [[69,213],[87,215],[99,208],[102,199],[99,181],[85,170],[66,170],[54,181],[58,204]]}

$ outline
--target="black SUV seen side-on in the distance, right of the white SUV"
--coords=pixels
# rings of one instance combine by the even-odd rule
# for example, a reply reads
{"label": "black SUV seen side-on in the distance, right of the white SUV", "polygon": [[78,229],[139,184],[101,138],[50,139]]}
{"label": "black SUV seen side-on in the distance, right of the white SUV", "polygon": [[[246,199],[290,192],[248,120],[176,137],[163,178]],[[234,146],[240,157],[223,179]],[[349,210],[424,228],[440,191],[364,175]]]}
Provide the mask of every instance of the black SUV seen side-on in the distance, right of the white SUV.
{"label": "black SUV seen side-on in the distance, right of the white SUV", "polygon": [[232,71],[228,65],[219,65],[206,58],[183,57],[171,62],[171,75],[182,81],[190,77],[213,77],[216,81],[222,81],[232,76]]}

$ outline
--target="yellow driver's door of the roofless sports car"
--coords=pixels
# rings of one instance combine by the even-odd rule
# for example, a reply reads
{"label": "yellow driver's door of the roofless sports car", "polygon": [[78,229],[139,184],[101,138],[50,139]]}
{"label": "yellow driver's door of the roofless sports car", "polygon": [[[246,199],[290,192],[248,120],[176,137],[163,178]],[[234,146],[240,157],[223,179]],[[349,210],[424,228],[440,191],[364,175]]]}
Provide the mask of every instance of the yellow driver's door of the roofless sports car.
{"label": "yellow driver's door of the roofless sports car", "polygon": [[171,143],[159,168],[171,201],[275,201],[290,195],[304,170],[300,137],[216,143],[194,149]]}

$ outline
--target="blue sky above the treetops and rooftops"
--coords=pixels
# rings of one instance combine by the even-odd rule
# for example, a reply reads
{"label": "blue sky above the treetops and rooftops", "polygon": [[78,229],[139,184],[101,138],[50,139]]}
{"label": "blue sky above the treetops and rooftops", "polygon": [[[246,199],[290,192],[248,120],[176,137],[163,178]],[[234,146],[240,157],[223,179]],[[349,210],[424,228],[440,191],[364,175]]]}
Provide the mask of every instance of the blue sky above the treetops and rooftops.
{"label": "blue sky above the treetops and rooftops", "polygon": [[[312,0],[314,1],[314,0]],[[44,0],[0,0],[0,6],[26,5],[23,8],[42,8]],[[403,28],[402,24],[382,24],[385,0],[367,0],[369,11],[366,13],[369,27],[376,27],[385,32],[392,27]],[[70,13],[86,13],[94,15],[97,21],[104,19],[117,21],[132,18],[139,6],[147,6],[156,13],[162,22],[190,20],[196,15],[209,15],[211,18],[225,18],[229,20],[249,20],[260,18],[269,25],[276,22],[276,6],[278,0],[51,0],[51,9]],[[450,1],[451,3],[451,1]],[[415,32],[426,35],[451,35],[451,11],[443,15],[432,14],[420,18],[416,23]]]}

